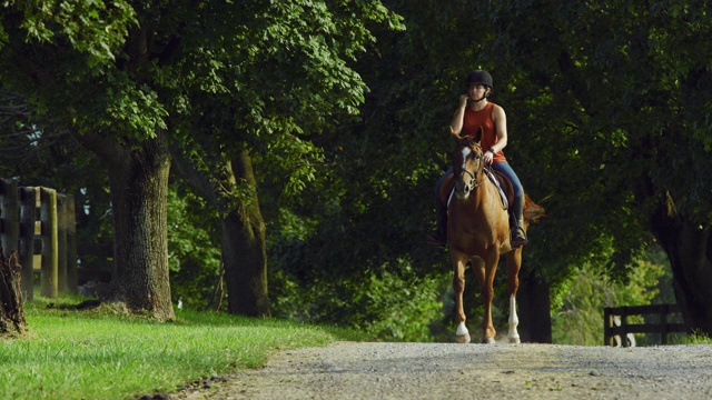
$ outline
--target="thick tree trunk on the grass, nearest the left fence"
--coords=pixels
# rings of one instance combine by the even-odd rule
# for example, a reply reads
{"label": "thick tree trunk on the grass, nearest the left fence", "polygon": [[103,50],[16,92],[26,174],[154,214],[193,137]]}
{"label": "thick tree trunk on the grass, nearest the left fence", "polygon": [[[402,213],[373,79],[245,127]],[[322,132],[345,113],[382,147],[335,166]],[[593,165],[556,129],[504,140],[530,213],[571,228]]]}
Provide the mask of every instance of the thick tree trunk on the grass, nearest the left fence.
{"label": "thick tree trunk on the grass, nearest the left fence", "polygon": [[159,321],[175,319],[168,274],[170,154],[164,133],[109,163],[113,274],[107,300]]}

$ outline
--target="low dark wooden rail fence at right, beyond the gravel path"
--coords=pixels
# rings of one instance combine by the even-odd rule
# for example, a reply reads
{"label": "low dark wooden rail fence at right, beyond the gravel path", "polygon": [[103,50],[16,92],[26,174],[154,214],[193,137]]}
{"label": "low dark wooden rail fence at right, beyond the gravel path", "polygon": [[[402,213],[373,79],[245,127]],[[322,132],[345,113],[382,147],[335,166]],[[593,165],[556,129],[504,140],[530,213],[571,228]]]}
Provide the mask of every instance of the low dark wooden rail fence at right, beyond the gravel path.
{"label": "low dark wooden rail fence at right, beyond the gravel path", "polygon": [[[671,314],[680,313],[676,304],[614,307],[603,310],[603,344],[635,346],[632,333],[660,333],[661,344],[670,342],[670,333],[686,332],[684,323],[669,322]],[[630,323],[630,316],[657,316],[657,323]]]}

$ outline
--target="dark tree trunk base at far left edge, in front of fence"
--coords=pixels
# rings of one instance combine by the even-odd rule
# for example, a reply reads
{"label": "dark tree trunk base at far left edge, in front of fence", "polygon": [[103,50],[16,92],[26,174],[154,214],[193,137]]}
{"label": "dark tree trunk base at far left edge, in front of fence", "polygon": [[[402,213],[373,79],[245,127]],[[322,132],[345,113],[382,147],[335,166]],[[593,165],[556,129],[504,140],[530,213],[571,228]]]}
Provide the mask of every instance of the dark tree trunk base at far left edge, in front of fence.
{"label": "dark tree trunk base at far left edge, in front of fence", "polygon": [[0,338],[27,331],[20,271],[18,252],[13,251],[6,258],[4,251],[0,250]]}

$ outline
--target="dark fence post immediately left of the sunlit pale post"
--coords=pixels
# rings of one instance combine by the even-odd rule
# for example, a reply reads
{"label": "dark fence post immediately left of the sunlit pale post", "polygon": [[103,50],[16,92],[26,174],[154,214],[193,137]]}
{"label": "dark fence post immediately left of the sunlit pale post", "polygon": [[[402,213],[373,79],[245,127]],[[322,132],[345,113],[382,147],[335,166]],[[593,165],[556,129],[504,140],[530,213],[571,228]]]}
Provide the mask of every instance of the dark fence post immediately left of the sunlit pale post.
{"label": "dark fence post immediately left of the sunlit pale post", "polygon": [[37,221],[37,189],[20,188],[20,266],[22,266],[22,294],[27,301],[34,298],[34,227]]}

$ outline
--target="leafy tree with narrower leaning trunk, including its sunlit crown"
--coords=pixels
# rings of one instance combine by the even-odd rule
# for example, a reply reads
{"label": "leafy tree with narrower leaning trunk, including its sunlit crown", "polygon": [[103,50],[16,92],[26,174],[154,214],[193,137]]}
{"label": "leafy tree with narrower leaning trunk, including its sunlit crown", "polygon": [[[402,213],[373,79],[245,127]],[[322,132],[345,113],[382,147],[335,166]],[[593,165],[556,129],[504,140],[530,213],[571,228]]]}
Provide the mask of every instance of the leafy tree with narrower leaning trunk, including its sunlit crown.
{"label": "leafy tree with narrower leaning trunk, including its sunlit crown", "polygon": [[215,26],[210,46],[181,44],[194,49],[190,68],[212,80],[207,91],[206,82],[196,82],[188,94],[177,92],[192,106],[176,123],[184,139],[175,161],[218,211],[230,311],[264,316],[269,306],[258,182],[274,184],[267,191],[273,196],[294,198],[314,179],[323,151],[309,137],[357,112],[363,101],[365,86],[346,61],[374,40],[364,21],[398,21],[378,2],[255,2],[199,11],[205,22],[191,37],[216,19],[229,23]]}

